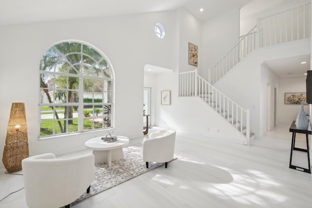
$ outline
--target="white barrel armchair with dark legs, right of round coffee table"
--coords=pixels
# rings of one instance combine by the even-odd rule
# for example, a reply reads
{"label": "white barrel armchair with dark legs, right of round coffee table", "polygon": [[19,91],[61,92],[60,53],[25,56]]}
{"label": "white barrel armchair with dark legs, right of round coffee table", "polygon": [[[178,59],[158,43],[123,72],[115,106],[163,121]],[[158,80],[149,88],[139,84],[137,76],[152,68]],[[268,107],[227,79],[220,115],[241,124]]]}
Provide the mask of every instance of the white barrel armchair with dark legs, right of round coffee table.
{"label": "white barrel armchair with dark legs, right of round coffee table", "polygon": [[168,162],[172,160],[175,152],[176,131],[161,130],[152,132],[148,138],[143,139],[143,161],[165,163],[167,168]]}

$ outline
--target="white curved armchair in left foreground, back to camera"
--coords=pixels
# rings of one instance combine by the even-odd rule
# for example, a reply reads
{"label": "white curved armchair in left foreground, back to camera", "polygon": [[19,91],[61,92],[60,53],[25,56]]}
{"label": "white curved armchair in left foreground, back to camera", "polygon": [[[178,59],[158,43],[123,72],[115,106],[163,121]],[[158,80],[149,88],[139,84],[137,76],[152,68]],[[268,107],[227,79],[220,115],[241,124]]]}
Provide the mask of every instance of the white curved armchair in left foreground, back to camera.
{"label": "white curved armchair in left foreground, back to camera", "polygon": [[22,160],[26,204],[30,208],[70,207],[94,181],[94,155],[56,158],[53,153]]}

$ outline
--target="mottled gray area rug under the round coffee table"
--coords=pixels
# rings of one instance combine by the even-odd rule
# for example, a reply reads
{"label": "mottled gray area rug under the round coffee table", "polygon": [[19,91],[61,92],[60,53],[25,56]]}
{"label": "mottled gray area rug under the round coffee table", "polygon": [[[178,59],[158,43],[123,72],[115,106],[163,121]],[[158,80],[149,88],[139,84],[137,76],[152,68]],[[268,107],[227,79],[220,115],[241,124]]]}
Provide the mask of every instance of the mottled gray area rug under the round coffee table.
{"label": "mottled gray area rug under the round coffee table", "polygon": [[97,164],[95,166],[95,180],[91,184],[90,192],[84,193],[75,202],[71,203],[71,205],[75,205],[84,199],[165,164],[149,163],[149,168],[147,169],[142,157],[142,144],[123,148],[123,155],[124,159],[112,162],[111,169],[108,169],[106,163]]}

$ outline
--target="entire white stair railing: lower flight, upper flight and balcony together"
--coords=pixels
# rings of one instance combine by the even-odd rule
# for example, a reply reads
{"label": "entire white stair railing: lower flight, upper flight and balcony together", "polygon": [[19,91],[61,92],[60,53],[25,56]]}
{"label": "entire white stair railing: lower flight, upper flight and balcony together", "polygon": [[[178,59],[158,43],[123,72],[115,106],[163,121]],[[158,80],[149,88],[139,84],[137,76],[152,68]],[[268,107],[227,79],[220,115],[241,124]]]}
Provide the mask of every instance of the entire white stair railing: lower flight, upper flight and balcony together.
{"label": "entire white stair railing: lower flight, upper flight and balcony together", "polygon": [[213,85],[227,75],[242,59],[255,49],[311,37],[311,4],[300,4],[285,11],[259,18],[257,25],[215,66],[209,70],[208,81],[195,71],[179,73],[179,96],[197,96],[220,114],[244,137],[249,145],[254,133],[250,131],[250,110],[244,109]]}

